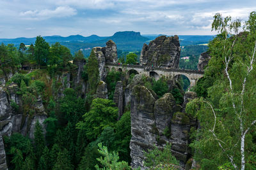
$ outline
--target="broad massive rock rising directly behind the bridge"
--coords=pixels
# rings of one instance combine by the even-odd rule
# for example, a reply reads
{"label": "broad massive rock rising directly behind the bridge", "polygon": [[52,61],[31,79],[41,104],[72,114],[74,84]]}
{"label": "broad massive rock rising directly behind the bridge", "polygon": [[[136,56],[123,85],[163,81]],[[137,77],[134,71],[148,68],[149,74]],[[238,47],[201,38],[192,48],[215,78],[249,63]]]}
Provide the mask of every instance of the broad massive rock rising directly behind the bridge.
{"label": "broad massive rock rising directly behind the bridge", "polygon": [[180,43],[178,36],[159,36],[141,50],[140,63],[154,67],[179,67]]}

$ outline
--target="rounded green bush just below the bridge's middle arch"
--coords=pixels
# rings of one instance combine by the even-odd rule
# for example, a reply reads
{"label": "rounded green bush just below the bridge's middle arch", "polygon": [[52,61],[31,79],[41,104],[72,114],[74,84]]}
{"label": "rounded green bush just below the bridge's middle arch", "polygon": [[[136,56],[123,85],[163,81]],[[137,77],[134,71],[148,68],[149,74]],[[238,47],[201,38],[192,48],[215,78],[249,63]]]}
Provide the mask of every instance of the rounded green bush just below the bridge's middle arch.
{"label": "rounded green bush just below the bridge's middle arch", "polygon": [[158,97],[162,97],[164,94],[168,92],[168,85],[166,80],[161,77],[159,80],[153,80],[152,89],[157,94]]}

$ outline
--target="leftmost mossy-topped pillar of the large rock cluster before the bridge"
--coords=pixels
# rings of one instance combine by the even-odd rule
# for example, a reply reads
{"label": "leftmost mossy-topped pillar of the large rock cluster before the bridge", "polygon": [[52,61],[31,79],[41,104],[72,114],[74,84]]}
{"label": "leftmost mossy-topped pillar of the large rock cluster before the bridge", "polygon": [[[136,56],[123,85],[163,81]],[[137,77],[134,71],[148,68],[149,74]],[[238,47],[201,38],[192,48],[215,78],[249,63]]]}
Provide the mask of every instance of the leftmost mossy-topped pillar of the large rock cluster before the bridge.
{"label": "leftmost mossy-topped pillar of the large rock cluster before the bridge", "polygon": [[154,135],[156,99],[144,86],[135,86],[131,95],[131,166],[143,167],[143,151],[157,143]]}

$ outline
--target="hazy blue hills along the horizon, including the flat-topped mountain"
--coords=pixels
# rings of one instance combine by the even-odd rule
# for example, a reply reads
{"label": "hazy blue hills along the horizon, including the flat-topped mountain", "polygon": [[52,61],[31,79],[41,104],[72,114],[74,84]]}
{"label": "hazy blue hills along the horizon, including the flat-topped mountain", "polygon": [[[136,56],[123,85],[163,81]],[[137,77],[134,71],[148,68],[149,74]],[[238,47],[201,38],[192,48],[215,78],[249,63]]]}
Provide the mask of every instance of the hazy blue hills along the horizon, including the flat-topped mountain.
{"label": "hazy blue hills along the horizon, including the flat-topped mountain", "polygon": [[[44,36],[43,38],[48,43],[53,44],[60,42],[61,45],[65,45],[70,49],[71,53],[77,52],[77,50],[83,50],[85,56],[90,55],[90,51],[94,46],[105,46],[106,42],[109,39],[115,41],[118,50],[125,52],[140,52],[144,43],[149,43],[151,40],[161,36],[163,34],[145,34],[141,35],[140,32],[134,31],[121,31],[115,32],[113,36],[81,36],[81,35],[72,35],[72,36]],[[214,36],[179,36],[180,45],[198,45],[208,43]],[[14,44],[19,47],[20,43],[25,45],[31,45],[35,43],[36,38],[14,38],[14,39],[0,39],[0,43],[4,44]]]}

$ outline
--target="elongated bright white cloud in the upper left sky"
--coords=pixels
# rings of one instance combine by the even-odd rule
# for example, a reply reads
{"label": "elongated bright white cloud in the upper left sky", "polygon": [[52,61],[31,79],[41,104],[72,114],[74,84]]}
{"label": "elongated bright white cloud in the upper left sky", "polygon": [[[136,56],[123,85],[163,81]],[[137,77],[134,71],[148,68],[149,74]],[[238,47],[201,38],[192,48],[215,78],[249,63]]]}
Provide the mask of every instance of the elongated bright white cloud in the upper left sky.
{"label": "elongated bright white cloud in the upper left sky", "polygon": [[77,11],[69,6],[58,6],[55,10],[29,10],[20,13],[20,17],[28,20],[46,20],[56,17],[70,17],[76,15]]}

